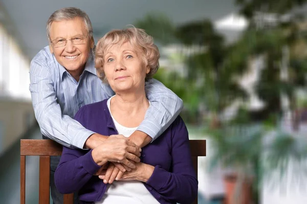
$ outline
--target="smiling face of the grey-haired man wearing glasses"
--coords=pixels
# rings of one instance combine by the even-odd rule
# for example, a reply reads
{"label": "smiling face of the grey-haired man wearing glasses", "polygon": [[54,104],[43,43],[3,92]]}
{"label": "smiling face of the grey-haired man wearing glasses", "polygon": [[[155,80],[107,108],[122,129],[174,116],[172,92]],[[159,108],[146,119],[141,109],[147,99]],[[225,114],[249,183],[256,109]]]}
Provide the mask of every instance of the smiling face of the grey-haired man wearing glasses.
{"label": "smiling face of the grey-haired man wearing glasses", "polygon": [[[93,38],[88,35],[82,18],[52,22],[50,40],[68,40],[64,47],[54,47],[50,44],[50,51],[56,60],[72,75],[81,75],[87,59],[90,57],[91,48],[94,47]],[[73,44],[72,38],[86,36],[83,44]]]}

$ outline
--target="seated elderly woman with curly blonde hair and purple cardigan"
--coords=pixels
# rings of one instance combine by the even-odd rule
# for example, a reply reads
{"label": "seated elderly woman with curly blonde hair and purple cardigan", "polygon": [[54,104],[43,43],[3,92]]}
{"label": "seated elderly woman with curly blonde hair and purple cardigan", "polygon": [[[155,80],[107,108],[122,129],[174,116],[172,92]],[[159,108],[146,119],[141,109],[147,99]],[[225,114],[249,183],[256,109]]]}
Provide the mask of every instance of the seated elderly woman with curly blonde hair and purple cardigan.
{"label": "seated elderly woman with curly blonde hair and purple cardigan", "polygon": [[[97,43],[95,67],[116,94],[83,106],[75,119],[100,134],[129,137],[149,107],[145,81],[157,72],[159,57],[152,38],[141,29],[108,32]],[[56,187],[61,193],[79,191],[83,203],[191,203],[196,198],[198,180],[181,117],[142,149],[136,168],[124,172],[113,184],[104,183],[103,169],[116,162],[112,155],[120,152],[108,140],[89,151],[63,147],[55,172]]]}

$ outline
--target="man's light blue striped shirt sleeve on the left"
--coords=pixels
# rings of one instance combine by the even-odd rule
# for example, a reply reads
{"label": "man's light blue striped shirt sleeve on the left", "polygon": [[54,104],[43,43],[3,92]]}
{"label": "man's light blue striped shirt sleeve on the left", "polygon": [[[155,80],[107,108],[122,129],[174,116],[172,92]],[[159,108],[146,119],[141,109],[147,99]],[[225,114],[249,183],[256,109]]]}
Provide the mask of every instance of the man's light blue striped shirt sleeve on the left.
{"label": "man's light blue striped shirt sleeve on the left", "polygon": [[45,63],[31,61],[29,89],[41,133],[63,146],[83,148],[87,138],[95,132],[62,114],[56,101],[52,74]]}

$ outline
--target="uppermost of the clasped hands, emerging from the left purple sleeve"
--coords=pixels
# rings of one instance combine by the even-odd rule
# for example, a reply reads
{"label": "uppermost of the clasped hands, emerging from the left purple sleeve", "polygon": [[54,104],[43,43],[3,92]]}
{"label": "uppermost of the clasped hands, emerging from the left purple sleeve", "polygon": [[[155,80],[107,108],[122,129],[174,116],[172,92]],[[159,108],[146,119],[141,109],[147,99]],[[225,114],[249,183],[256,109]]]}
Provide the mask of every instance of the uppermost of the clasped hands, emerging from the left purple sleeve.
{"label": "uppermost of the clasped hands, emerging from the left purple sleeve", "polygon": [[[111,135],[101,145],[92,151],[93,160],[102,166],[107,161],[122,163],[129,168],[135,168],[130,162],[140,162],[141,148],[129,141],[123,135]],[[129,161],[130,160],[130,161]]]}

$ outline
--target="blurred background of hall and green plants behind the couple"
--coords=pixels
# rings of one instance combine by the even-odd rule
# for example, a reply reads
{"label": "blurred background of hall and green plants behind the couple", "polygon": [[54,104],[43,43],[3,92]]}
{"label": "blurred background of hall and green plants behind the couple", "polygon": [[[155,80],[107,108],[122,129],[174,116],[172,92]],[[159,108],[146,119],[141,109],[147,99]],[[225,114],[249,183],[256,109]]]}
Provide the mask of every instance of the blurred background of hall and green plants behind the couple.
{"label": "blurred background of hall and green plants behind the couple", "polygon": [[[199,203],[307,203],[305,0],[0,0],[0,203],[19,203],[19,140],[41,138],[30,61],[62,7],[89,14],[96,42],[126,25],[154,37],[155,78],[183,99],[190,139],[207,140]],[[35,157],[26,203],[38,203]]]}

